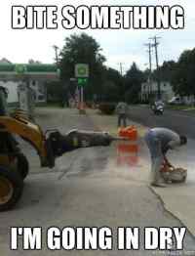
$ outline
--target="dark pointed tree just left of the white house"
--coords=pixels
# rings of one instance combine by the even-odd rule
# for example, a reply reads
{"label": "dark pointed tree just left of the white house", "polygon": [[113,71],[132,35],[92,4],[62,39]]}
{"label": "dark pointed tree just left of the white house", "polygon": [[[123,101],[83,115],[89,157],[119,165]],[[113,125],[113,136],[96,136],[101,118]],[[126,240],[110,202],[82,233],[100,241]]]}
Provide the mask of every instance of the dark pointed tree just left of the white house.
{"label": "dark pointed tree just left of the white house", "polygon": [[129,104],[137,104],[141,90],[141,83],[144,81],[144,74],[133,63],[125,76],[125,100]]}

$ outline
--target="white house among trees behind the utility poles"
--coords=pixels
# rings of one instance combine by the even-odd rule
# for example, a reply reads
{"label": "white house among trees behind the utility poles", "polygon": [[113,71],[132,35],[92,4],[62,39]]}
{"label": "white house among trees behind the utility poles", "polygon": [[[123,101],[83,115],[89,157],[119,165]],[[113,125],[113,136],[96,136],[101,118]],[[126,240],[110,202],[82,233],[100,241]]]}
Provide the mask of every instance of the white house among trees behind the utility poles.
{"label": "white house among trees behind the utility poles", "polygon": [[[173,87],[168,81],[160,82],[161,97],[164,102],[169,102],[175,97]],[[140,100],[141,102],[150,102],[158,97],[158,84],[156,81],[145,82],[141,84]]]}

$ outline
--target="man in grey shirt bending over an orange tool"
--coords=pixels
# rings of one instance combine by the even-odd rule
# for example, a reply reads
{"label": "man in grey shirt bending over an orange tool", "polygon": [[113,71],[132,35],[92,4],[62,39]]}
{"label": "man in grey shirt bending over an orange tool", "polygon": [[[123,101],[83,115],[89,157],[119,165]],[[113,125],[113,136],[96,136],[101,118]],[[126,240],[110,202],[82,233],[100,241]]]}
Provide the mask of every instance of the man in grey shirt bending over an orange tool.
{"label": "man in grey shirt bending over an orange tool", "polygon": [[145,135],[145,142],[151,155],[151,186],[165,187],[161,181],[161,166],[165,161],[170,164],[166,158],[169,149],[176,149],[187,144],[187,138],[178,135],[176,132],[167,128],[153,128]]}

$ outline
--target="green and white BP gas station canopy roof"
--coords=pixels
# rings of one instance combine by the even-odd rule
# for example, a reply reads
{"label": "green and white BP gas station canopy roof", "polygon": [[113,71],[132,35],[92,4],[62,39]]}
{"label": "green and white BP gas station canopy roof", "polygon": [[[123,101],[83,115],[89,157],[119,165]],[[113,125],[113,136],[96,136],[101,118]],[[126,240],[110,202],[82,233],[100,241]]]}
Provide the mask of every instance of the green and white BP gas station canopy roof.
{"label": "green and white BP gas station canopy roof", "polygon": [[0,80],[58,80],[59,68],[56,64],[0,64]]}

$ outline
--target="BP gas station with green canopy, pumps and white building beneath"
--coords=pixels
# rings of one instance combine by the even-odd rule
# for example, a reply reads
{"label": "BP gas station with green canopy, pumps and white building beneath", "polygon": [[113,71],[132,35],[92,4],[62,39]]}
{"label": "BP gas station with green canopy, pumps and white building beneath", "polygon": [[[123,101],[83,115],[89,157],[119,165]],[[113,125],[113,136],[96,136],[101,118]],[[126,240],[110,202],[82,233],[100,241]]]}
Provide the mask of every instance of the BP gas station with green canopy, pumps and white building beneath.
{"label": "BP gas station with green canopy, pumps and white building beneath", "polygon": [[29,113],[35,104],[47,102],[46,83],[56,80],[59,80],[56,64],[12,64],[6,59],[0,61],[0,86],[8,91],[8,104]]}

